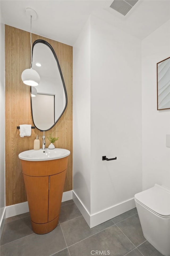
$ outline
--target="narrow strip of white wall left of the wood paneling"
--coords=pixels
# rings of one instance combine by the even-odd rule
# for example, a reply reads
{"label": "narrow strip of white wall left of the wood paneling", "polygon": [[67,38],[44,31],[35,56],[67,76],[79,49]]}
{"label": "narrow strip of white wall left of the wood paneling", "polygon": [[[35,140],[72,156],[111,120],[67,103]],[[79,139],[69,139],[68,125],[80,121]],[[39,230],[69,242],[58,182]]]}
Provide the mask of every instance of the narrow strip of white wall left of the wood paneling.
{"label": "narrow strip of white wall left of the wood paneling", "polygon": [[0,235],[5,210],[5,66],[4,24],[0,23]]}

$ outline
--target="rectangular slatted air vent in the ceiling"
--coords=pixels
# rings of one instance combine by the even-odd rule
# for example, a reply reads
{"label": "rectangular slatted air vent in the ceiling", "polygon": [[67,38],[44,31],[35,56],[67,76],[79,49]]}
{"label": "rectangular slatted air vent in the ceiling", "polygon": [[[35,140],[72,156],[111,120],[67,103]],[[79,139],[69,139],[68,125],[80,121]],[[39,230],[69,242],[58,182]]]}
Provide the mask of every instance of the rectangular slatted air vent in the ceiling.
{"label": "rectangular slatted air vent in the ceiling", "polygon": [[110,7],[125,16],[137,2],[138,0],[114,0]]}

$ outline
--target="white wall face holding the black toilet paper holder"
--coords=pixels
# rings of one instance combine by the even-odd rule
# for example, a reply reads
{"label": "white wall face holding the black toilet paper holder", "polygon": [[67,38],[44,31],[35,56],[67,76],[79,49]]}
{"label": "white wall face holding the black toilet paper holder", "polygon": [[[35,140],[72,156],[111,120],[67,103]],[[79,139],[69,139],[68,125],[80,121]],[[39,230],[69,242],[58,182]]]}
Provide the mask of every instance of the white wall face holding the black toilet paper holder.
{"label": "white wall face holding the black toilet paper holder", "polygon": [[91,16],[91,214],[142,190],[141,111],[140,40]]}

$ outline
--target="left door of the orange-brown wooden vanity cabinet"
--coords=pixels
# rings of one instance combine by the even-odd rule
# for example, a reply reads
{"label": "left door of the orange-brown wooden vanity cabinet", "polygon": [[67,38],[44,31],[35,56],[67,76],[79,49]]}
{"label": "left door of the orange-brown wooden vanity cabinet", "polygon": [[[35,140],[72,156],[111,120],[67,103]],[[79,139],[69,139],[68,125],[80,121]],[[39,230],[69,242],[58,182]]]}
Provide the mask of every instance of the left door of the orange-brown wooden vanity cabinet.
{"label": "left door of the orange-brown wooden vanity cabinet", "polygon": [[23,176],[31,220],[38,224],[47,223],[49,176]]}

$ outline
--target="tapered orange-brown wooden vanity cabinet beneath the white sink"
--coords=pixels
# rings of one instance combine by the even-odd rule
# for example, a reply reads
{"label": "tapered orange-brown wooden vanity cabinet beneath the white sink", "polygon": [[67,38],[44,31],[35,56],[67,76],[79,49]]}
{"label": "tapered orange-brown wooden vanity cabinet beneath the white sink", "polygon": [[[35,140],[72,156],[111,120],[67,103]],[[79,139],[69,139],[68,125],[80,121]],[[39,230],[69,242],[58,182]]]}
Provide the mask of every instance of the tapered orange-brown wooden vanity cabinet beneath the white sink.
{"label": "tapered orange-brown wooden vanity cabinet beneath the white sink", "polygon": [[21,160],[32,229],[46,234],[58,224],[68,157],[49,161]]}

